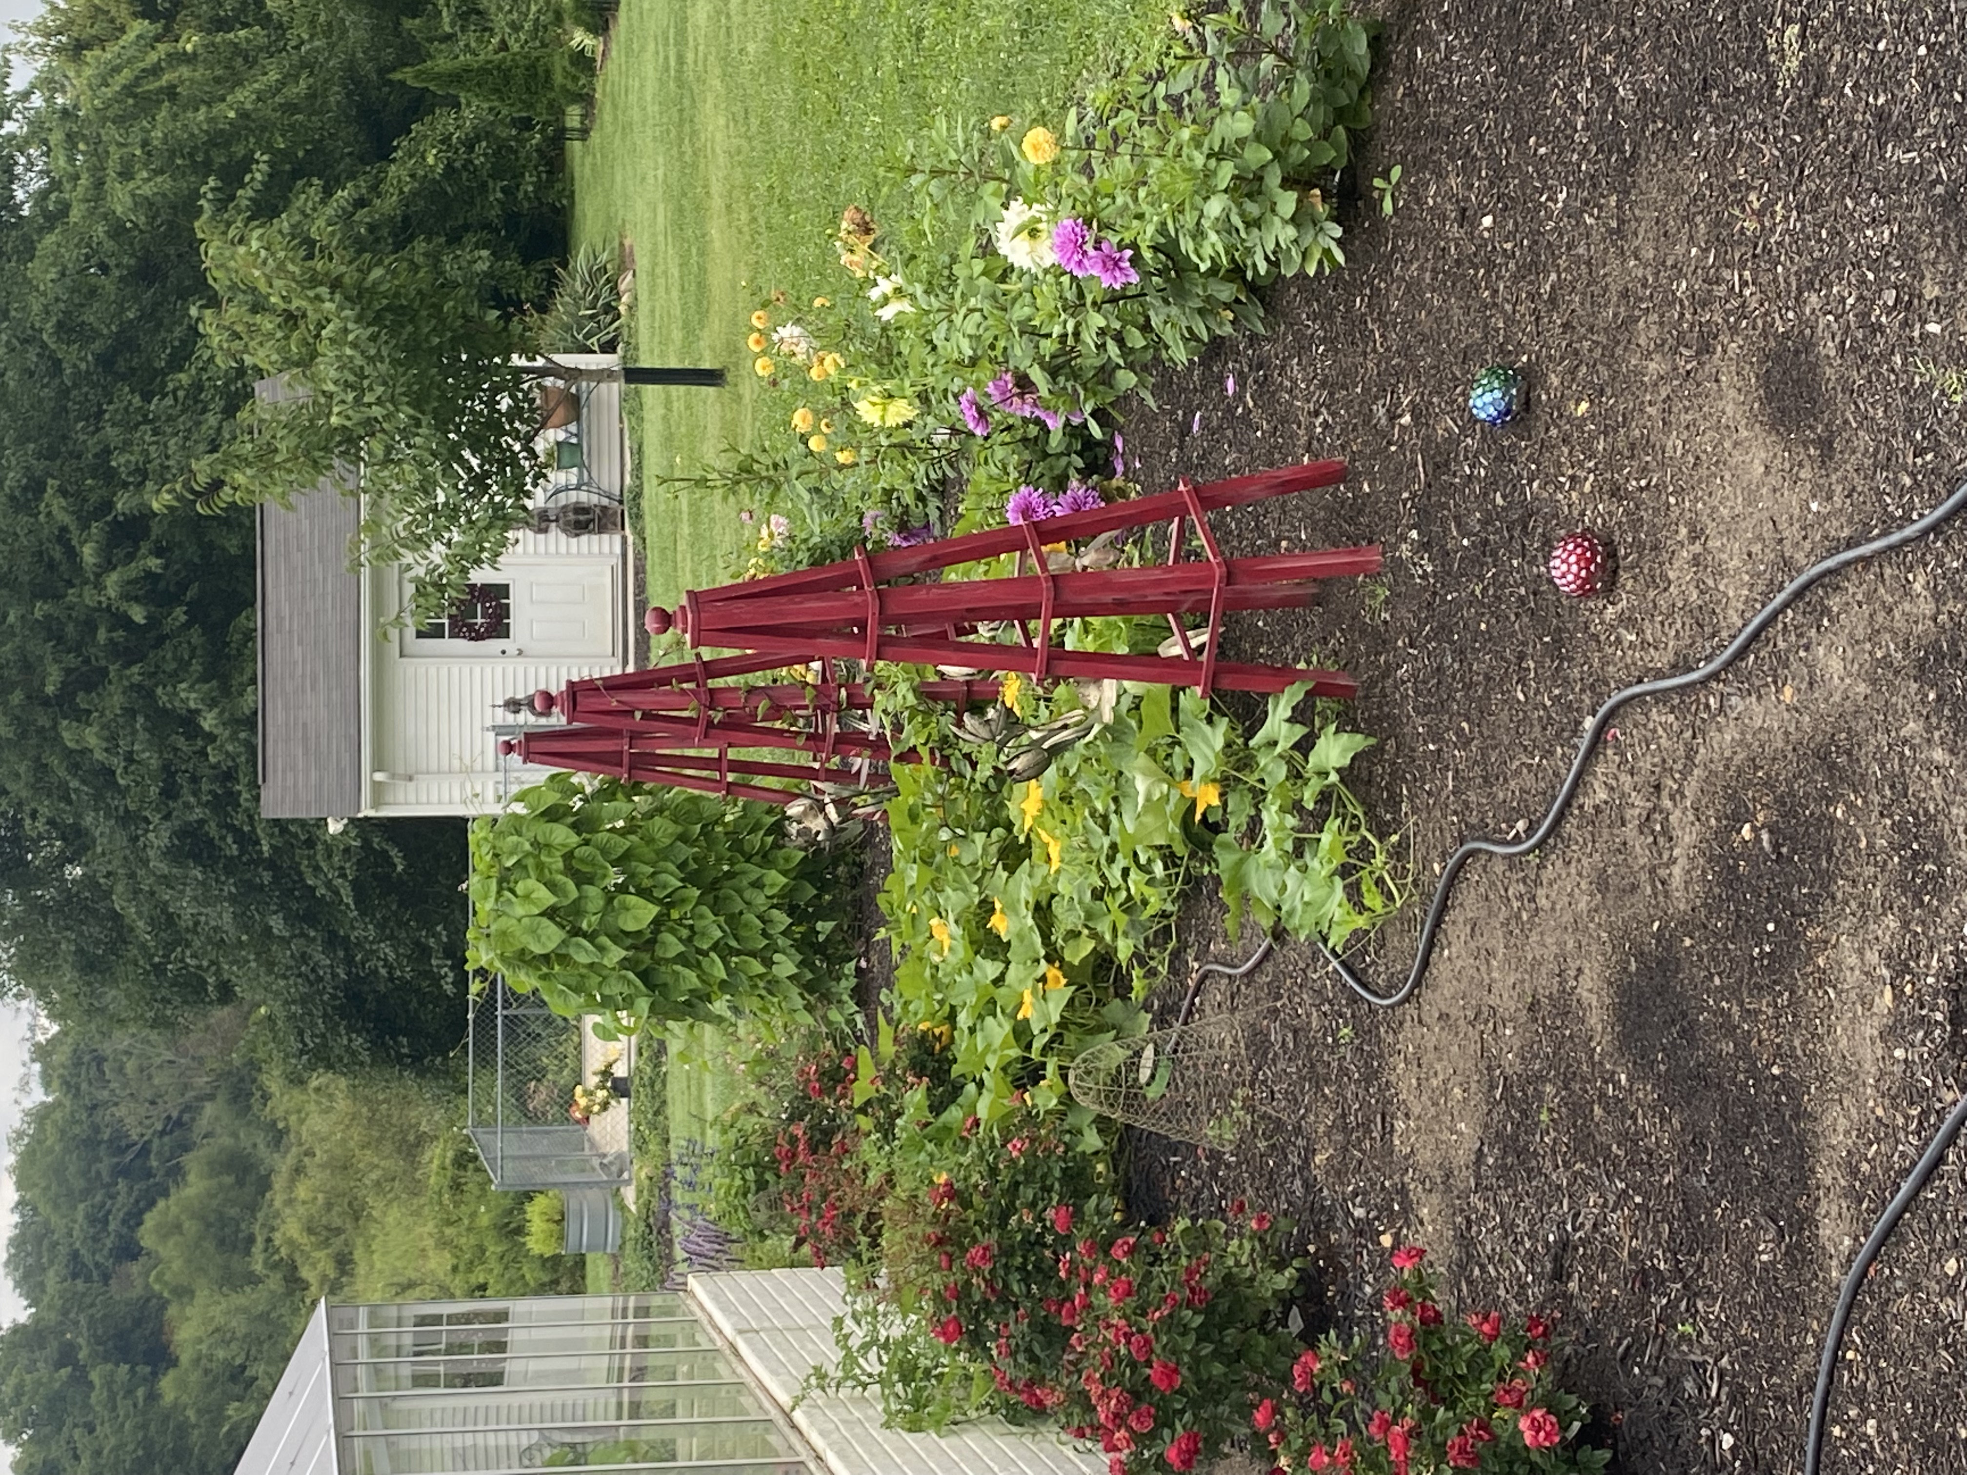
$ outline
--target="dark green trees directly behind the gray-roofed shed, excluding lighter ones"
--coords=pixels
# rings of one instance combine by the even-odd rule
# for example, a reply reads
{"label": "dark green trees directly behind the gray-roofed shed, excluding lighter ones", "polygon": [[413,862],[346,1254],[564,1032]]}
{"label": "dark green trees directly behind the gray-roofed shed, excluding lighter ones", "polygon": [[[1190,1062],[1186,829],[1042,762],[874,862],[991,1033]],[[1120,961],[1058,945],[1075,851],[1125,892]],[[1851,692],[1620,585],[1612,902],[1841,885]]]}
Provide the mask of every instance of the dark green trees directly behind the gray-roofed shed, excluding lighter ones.
{"label": "dark green trees directly behind the gray-roofed shed, excluding lighter ones", "polygon": [[191,317],[203,201],[362,191],[378,242],[557,248],[537,138],[387,81],[492,8],[57,0],[31,28],[0,138],[0,944],[63,1023],[248,999],[319,1062],[456,1034],[456,826],[260,820],[254,523],[153,500],[250,399]]}

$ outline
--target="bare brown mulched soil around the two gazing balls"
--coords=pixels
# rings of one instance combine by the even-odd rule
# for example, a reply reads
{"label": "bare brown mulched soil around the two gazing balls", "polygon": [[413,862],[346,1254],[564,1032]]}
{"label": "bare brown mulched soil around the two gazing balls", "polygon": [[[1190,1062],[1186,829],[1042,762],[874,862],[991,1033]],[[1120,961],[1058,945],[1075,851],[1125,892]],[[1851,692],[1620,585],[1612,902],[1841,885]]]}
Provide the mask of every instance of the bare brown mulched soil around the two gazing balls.
{"label": "bare brown mulched soil around the two gazing balls", "polygon": [[[1402,165],[1395,216],[1365,191],[1343,271],[1127,425],[1149,488],[1351,460],[1222,525],[1387,549],[1383,590],[1229,637],[1363,684],[1357,789],[1416,873],[1381,987],[1438,861],[1534,826],[1611,690],[1967,474],[1963,41],[1959,0],[1389,6],[1359,177]],[[1505,431],[1465,411],[1489,362],[1528,372]],[[1542,572],[1578,527],[1619,564],[1587,602]],[[1963,582],[1967,519],[1629,708],[1558,838],[1463,875],[1414,1003],[1296,946],[1210,987],[1271,1013],[1294,1119],[1141,1139],[1137,1208],[1292,1211],[1341,1326],[1420,1241],[1463,1310],[1558,1312],[1621,1469],[1796,1469],[1845,1267],[1967,1086]],[[1184,934],[1249,946],[1212,903]],[[1847,1347],[1825,1469],[1967,1471],[1967,1147]]]}

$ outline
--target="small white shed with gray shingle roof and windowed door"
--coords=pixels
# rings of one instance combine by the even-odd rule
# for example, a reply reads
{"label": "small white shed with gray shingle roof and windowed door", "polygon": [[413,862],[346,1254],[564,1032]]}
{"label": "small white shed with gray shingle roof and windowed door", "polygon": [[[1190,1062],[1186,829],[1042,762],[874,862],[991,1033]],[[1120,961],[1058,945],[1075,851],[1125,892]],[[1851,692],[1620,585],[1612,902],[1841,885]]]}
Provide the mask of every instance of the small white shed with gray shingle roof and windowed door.
{"label": "small white shed with gray shingle roof and windowed door", "polygon": [[[612,354],[557,360],[606,374]],[[262,382],[264,397],[285,393]],[[401,568],[352,568],[360,502],[332,486],[260,507],[260,812],[268,818],[484,814],[535,775],[498,743],[541,686],[633,659],[622,384],[543,387],[529,527],[445,620],[382,631]]]}

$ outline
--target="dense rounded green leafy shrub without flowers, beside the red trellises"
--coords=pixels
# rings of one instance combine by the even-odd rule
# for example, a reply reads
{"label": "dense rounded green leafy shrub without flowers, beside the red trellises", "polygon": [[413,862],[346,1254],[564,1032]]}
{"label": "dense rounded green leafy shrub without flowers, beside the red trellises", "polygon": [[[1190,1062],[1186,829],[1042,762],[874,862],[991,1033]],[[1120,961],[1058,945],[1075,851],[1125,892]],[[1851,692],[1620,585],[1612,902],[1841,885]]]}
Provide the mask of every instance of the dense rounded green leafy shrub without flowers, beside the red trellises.
{"label": "dense rounded green leafy shrub without flowers, beside the red trellises", "polygon": [[622,1034],[753,1009],[787,1019],[838,987],[824,861],[779,812],[557,773],[472,822],[466,964]]}

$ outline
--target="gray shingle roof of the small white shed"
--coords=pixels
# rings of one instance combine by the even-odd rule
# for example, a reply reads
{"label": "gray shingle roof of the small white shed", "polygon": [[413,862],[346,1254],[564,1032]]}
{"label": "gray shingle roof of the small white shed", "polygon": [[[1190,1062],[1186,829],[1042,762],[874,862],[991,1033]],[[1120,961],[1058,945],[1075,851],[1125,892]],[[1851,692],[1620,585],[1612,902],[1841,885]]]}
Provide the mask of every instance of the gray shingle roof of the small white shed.
{"label": "gray shingle roof of the small white shed", "polygon": [[360,507],[323,482],[260,507],[260,814],[360,814],[362,580],[348,568]]}

